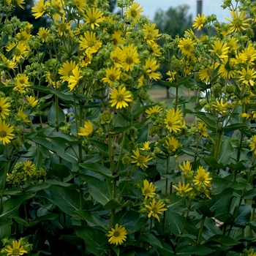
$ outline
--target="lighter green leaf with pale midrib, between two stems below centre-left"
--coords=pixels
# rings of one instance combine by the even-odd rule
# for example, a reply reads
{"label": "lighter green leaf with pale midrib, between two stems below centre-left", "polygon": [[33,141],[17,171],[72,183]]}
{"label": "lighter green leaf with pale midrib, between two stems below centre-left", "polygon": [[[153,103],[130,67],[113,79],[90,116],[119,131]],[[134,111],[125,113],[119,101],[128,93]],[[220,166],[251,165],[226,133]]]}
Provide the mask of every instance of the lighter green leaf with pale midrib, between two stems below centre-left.
{"label": "lighter green leaf with pale midrib, between two stems below centre-left", "polygon": [[103,206],[110,201],[110,192],[106,181],[100,181],[98,178],[92,176],[83,176],[86,182],[89,184],[89,192],[97,202]]}

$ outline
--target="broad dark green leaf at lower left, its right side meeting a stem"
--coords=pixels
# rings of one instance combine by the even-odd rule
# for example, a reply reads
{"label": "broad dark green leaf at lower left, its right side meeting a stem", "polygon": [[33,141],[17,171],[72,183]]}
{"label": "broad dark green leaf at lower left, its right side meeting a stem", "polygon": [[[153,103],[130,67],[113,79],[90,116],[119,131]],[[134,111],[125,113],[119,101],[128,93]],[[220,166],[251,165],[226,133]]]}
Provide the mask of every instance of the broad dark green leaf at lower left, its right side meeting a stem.
{"label": "broad dark green leaf at lower left, its right side meeting a stem", "polygon": [[49,192],[50,197],[48,199],[61,208],[61,211],[69,215],[75,215],[75,211],[79,210],[79,192],[77,190],[51,186]]}

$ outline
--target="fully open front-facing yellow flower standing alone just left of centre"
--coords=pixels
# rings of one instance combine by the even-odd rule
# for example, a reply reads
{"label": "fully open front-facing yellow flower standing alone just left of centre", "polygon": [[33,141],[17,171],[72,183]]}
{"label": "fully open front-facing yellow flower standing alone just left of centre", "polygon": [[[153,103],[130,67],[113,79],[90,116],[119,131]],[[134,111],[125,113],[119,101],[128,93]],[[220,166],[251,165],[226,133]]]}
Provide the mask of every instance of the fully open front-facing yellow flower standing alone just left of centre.
{"label": "fully open front-facing yellow flower standing alone just left of centre", "polygon": [[127,102],[132,102],[131,98],[132,95],[130,91],[127,91],[125,87],[121,88],[121,86],[119,86],[118,90],[114,88],[113,91],[110,91],[110,104],[111,107],[116,105],[116,109],[126,108],[128,106]]}

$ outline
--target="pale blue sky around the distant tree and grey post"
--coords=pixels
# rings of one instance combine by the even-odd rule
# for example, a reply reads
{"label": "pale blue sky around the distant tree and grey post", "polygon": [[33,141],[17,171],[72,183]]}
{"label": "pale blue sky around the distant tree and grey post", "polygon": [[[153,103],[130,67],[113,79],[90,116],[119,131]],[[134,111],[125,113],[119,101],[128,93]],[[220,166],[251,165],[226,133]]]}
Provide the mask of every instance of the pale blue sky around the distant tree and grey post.
{"label": "pale blue sky around the distant tree and grey post", "polygon": [[[189,14],[192,14],[194,19],[197,16],[196,7],[197,0],[135,0],[141,7],[143,7],[143,15],[149,17],[151,21],[154,20],[154,13],[158,9],[168,10],[170,7],[177,7],[181,4],[187,4],[189,6]],[[225,17],[230,18],[229,10],[223,10],[221,5],[222,0],[202,0],[203,1],[203,13],[207,15],[215,14],[217,19],[221,22],[227,22]]]}

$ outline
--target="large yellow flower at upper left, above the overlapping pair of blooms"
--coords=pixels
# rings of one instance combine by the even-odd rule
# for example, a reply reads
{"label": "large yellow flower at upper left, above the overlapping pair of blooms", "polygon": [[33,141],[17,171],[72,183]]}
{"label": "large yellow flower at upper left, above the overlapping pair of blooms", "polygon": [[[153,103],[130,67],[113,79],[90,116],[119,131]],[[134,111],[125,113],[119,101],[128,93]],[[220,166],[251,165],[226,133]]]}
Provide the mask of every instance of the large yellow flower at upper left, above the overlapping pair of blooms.
{"label": "large yellow flower at upper left, above the overlapping pair of blooms", "polygon": [[90,53],[97,53],[99,48],[101,47],[101,42],[97,40],[96,34],[93,32],[86,31],[84,37],[80,37],[80,50],[86,49],[86,53],[89,51]]}

